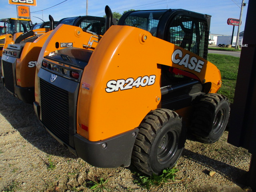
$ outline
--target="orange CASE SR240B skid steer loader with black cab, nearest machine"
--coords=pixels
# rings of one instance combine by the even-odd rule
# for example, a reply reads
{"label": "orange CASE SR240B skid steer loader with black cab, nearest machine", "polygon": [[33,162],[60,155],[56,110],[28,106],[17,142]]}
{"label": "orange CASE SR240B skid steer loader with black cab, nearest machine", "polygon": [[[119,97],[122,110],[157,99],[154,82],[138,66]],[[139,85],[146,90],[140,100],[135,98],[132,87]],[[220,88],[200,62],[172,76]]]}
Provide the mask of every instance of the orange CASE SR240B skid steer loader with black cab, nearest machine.
{"label": "orange CASE SR240B skid steer loader with black cab, nearest machine", "polygon": [[36,70],[36,115],[92,166],[132,162],[159,174],[177,162],[187,128],[206,143],[225,130],[230,108],[216,94],[220,71],[206,60],[209,28],[209,15],[139,10],[124,14],[93,51],[65,48],[43,56],[45,45]]}

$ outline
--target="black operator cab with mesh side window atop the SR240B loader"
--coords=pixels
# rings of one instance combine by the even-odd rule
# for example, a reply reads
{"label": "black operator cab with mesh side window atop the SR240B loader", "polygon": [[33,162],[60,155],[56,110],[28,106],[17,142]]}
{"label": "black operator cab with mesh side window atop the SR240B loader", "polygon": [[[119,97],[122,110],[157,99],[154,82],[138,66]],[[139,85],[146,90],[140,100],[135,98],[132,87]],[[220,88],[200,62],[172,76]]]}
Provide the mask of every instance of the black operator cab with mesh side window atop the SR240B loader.
{"label": "black operator cab with mesh side window atop the SR240B loader", "polygon": [[141,28],[207,59],[210,17],[181,9],[138,10],[126,12],[118,25]]}

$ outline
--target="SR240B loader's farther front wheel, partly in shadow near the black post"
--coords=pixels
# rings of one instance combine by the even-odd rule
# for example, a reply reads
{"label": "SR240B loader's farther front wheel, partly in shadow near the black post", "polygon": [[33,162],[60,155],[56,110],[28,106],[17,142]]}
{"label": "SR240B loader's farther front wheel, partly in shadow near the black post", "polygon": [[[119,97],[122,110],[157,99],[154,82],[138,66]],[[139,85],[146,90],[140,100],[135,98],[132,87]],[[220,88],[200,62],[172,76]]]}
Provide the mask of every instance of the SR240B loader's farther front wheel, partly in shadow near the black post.
{"label": "SR240B loader's farther front wheel, partly in shadow near the black post", "polygon": [[225,96],[206,94],[195,106],[190,132],[204,143],[214,143],[222,136],[230,114]]}

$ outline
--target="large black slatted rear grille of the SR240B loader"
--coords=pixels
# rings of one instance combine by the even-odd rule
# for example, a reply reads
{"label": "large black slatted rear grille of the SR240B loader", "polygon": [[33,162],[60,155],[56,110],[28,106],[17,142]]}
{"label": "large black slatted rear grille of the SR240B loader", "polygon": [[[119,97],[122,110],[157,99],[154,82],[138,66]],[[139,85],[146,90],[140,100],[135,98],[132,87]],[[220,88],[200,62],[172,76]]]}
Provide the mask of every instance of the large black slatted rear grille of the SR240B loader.
{"label": "large black slatted rear grille of the SR240B loader", "polygon": [[42,123],[69,144],[68,91],[40,79]]}

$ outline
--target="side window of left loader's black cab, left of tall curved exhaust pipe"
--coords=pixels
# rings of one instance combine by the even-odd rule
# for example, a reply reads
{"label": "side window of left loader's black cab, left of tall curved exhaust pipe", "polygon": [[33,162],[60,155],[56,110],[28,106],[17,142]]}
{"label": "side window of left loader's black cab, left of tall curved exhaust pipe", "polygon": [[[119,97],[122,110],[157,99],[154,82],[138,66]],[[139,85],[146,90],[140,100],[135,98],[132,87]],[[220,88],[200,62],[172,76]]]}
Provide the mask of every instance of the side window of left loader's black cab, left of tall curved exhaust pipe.
{"label": "side window of left loader's black cab, left of tall curved exhaust pipe", "polygon": [[105,33],[105,21],[101,20],[82,20],[79,27],[83,30],[89,30],[98,35],[104,35]]}

